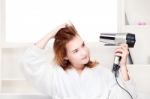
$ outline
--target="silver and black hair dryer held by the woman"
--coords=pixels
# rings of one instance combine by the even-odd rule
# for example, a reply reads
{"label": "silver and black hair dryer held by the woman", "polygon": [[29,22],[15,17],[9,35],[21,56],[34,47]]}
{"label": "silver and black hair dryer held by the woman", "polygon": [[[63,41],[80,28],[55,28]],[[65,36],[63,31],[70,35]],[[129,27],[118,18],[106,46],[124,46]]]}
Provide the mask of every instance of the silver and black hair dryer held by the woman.
{"label": "silver and black hair dryer held by the woman", "polygon": [[[135,34],[132,33],[101,33],[100,35],[100,42],[105,43],[106,46],[116,46],[121,43],[128,44],[129,48],[134,47],[135,44]],[[115,56],[114,57],[114,63],[113,63],[113,69],[112,71],[118,71],[120,66],[121,57]]]}

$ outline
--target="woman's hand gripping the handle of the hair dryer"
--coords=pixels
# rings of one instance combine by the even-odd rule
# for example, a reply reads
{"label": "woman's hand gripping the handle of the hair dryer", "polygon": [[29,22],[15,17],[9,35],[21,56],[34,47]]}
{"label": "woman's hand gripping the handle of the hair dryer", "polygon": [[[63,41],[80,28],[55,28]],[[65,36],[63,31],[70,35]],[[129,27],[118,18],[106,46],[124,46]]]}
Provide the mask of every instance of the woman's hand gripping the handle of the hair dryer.
{"label": "woman's hand gripping the handle of the hair dryer", "polygon": [[126,43],[122,43],[119,46],[117,46],[117,48],[115,49],[115,55],[121,57],[119,65],[121,67],[126,66],[127,57],[129,55],[128,45]]}

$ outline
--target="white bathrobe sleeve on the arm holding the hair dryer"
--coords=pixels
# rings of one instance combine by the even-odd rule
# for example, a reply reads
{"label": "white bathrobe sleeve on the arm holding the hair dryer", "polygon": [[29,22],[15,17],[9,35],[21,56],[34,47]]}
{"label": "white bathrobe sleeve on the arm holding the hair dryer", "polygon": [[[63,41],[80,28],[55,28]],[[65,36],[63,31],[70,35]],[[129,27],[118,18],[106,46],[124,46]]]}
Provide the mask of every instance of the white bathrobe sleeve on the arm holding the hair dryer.
{"label": "white bathrobe sleeve on the arm holding the hair dryer", "polygon": [[[119,85],[116,82],[114,73],[111,71],[108,73],[108,87],[109,87],[109,95],[108,99],[132,99],[130,95],[121,89]],[[133,99],[137,99],[137,93],[136,93],[136,88],[135,88],[135,83],[130,77],[130,80],[124,81],[121,75],[121,72],[119,71],[119,77],[117,78],[118,83],[120,84],[121,87],[123,87],[125,90],[127,90]]]}

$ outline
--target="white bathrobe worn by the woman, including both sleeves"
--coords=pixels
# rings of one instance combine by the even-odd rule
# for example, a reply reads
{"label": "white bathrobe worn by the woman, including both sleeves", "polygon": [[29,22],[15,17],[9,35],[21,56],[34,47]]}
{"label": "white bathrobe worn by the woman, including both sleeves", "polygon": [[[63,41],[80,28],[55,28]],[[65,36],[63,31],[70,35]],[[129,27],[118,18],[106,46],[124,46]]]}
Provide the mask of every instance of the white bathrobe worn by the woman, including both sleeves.
{"label": "white bathrobe worn by the woman, including both sleeves", "polygon": [[[81,74],[73,68],[64,71],[60,66],[51,64],[45,57],[45,51],[34,45],[25,51],[21,64],[27,80],[52,99],[131,99],[118,87],[114,74],[101,65],[85,67]],[[119,75],[121,86],[136,99],[132,80],[124,81]]]}

